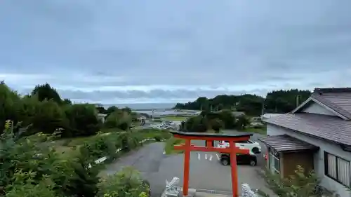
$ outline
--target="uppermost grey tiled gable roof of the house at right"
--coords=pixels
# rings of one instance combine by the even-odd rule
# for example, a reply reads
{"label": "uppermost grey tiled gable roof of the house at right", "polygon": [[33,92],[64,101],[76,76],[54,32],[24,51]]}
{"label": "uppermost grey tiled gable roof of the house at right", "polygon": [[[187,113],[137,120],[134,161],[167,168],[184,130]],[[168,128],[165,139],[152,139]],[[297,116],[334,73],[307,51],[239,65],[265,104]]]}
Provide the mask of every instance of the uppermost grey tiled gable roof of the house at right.
{"label": "uppermost grey tiled gable roof of the house at right", "polygon": [[311,97],[351,119],[351,88],[315,88]]}

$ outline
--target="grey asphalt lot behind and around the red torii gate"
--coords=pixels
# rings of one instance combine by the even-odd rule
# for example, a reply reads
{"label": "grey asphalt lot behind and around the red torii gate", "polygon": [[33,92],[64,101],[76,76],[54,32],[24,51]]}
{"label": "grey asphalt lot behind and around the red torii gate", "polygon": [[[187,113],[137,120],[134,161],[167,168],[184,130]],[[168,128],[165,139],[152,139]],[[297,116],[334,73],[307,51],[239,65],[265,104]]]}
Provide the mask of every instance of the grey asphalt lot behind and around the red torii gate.
{"label": "grey asphalt lot behind and around the red torii gate", "polygon": [[[199,141],[194,143],[204,144]],[[149,180],[152,196],[159,197],[164,190],[166,179],[179,177],[180,185],[183,185],[183,154],[166,156],[163,155],[163,149],[162,142],[147,144],[108,165],[102,174],[113,174],[126,165],[132,165]],[[190,187],[231,191],[230,166],[220,165],[216,153],[207,153],[206,156],[204,153],[192,152],[190,160]],[[270,193],[265,188],[263,179],[257,175],[258,169],[260,167],[238,166],[239,184],[249,183],[253,188],[260,188]]]}

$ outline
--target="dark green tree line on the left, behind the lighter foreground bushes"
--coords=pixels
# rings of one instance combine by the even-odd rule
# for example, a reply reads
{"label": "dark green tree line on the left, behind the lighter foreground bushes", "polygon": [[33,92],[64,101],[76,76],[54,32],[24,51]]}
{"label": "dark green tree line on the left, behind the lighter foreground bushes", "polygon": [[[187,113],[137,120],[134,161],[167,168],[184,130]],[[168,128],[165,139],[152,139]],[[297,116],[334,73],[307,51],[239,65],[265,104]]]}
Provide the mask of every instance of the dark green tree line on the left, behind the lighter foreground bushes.
{"label": "dark green tree line on the left, behind the lighter foreground bushes", "polygon": [[[13,125],[18,125],[14,133],[24,136],[59,132],[61,137],[79,137],[95,135],[102,128],[128,130],[138,116],[128,108],[101,109],[95,104],[72,104],[48,83],[20,95],[1,82],[0,106],[0,133],[5,122],[11,120]],[[107,114],[105,123],[98,116],[101,112]]]}

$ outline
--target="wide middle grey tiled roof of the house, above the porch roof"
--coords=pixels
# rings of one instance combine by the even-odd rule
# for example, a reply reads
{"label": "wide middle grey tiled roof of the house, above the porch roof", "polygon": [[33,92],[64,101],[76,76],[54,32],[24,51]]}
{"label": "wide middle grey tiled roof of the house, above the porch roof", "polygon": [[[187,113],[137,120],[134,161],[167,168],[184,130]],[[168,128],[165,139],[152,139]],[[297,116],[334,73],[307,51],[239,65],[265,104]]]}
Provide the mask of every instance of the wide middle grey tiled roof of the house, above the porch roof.
{"label": "wide middle grey tiled roof of the house, above the porch roof", "polygon": [[267,123],[296,130],[305,135],[351,145],[351,121],[320,114],[282,114],[265,120]]}

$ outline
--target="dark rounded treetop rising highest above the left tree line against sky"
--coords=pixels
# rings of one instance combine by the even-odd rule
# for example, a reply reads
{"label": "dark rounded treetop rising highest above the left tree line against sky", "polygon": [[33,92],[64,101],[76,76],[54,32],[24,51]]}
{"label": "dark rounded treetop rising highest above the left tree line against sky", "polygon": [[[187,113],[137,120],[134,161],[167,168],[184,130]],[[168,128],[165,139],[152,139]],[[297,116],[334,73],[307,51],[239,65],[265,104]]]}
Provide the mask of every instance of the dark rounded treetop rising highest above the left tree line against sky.
{"label": "dark rounded treetop rising highest above the left tree line against sky", "polygon": [[59,104],[62,102],[57,90],[52,88],[48,83],[35,86],[35,88],[32,90],[32,95],[37,95],[39,101],[53,100]]}

